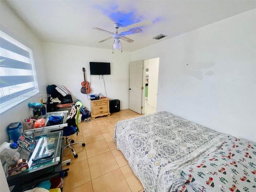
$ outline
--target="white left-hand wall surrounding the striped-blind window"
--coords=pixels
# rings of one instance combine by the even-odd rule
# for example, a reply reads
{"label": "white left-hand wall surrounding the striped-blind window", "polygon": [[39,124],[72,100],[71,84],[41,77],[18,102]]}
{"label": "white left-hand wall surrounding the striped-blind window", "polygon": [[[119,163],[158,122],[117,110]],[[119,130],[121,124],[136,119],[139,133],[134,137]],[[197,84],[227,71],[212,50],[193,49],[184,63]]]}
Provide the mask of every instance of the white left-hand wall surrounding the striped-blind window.
{"label": "white left-hand wall surrounding the striped-blind window", "polygon": [[[0,18],[1,30],[4,33],[33,50],[39,91],[40,94],[45,94],[46,80],[40,40],[38,40],[38,38],[22,23],[16,14],[14,14],[3,1],[0,1]],[[29,98],[18,106],[15,106],[15,108],[0,115],[0,144],[9,141],[7,126],[11,122],[23,122],[24,118],[31,116],[31,109],[28,107],[28,103],[30,102],[40,102],[40,100],[39,98]],[[5,177],[2,174],[2,168],[0,168],[0,181],[0,191],[7,192],[8,186]]]}

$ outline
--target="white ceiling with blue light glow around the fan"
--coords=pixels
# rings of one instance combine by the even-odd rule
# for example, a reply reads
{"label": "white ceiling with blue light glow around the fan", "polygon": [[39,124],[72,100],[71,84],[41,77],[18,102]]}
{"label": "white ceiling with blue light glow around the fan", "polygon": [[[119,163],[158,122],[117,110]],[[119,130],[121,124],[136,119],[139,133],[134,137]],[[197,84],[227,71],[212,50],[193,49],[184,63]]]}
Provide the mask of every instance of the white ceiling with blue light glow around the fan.
{"label": "white ceiling with blue light glow around the fan", "polygon": [[[23,22],[44,42],[112,49],[110,34],[134,27],[142,33],[121,40],[123,51],[134,51],[179,34],[256,8],[252,0],[4,0]],[[153,37],[164,34],[161,40]]]}

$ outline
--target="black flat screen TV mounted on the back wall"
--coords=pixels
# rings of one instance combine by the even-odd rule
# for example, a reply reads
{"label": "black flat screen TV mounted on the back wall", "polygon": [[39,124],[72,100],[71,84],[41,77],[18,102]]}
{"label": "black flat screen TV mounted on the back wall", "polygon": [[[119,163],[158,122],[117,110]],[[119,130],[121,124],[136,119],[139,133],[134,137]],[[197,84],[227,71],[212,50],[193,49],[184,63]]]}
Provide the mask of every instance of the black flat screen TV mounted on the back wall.
{"label": "black flat screen TV mounted on the back wall", "polygon": [[90,62],[91,75],[110,75],[110,63]]}

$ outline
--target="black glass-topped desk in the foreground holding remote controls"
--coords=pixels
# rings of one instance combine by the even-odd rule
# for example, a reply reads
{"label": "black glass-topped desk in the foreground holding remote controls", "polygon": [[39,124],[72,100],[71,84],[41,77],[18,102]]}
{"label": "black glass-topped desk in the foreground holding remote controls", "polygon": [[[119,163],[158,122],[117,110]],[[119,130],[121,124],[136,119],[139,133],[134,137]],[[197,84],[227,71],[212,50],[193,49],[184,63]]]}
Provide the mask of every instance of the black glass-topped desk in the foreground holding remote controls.
{"label": "black glass-topped desk in the foreground holding remote controls", "polygon": [[[14,186],[12,192],[21,192],[23,189],[35,187],[42,181],[50,180],[60,175],[62,170],[62,154],[64,140],[63,131],[52,132],[46,135],[35,137],[36,147],[33,153],[21,148],[20,158],[28,159],[29,168],[13,176],[6,178],[9,186]],[[31,167],[32,158],[35,156],[53,152],[52,161],[38,166]]]}

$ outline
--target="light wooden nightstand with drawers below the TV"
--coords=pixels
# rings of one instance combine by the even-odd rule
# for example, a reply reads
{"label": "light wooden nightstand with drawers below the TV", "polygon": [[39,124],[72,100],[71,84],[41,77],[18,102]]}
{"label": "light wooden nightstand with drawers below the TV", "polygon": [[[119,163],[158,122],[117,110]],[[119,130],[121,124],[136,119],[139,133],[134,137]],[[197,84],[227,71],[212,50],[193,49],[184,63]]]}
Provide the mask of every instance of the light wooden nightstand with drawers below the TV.
{"label": "light wooden nightstand with drawers below the TV", "polygon": [[102,98],[99,100],[91,100],[91,117],[95,119],[101,116],[110,116],[109,112],[109,98]]}

